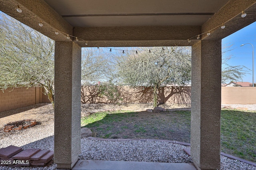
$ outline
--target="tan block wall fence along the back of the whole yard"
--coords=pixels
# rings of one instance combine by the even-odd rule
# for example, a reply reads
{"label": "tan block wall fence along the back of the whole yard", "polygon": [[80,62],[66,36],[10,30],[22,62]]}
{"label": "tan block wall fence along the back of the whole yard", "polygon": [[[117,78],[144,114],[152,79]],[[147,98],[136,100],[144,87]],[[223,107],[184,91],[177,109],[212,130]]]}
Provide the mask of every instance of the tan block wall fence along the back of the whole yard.
{"label": "tan block wall fence along the back of the whole yard", "polygon": [[[118,88],[122,100],[120,103],[152,103],[152,89],[150,88],[130,88],[127,86]],[[221,104],[256,104],[255,87],[222,87]],[[8,88],[0,92],[0,112],[30,106],[38,103],[50,103],[48,96],[43,94],[43,88]],[[164,87],[158,94],[159,103],[180,103],[190,104],[191,87],[182,89],[174,87]],[[97,94],[95,86],[82,86],[81,102],[109,103],[107,98]]]}

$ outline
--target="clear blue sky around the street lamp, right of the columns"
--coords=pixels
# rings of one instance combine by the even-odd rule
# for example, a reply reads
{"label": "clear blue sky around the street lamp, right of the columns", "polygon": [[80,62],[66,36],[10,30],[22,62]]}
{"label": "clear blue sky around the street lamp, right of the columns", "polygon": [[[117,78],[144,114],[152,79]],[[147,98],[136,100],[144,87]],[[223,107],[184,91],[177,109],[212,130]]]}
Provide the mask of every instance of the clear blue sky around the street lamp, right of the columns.
{"label": "clear blue sky around the street lamp, right of the columns", "polygon": [[[251,43],[254,46],[254,53],[256,48],[256,22],[236,31],[222,39],[222,47],[232,45],[225,55],[231,55],[232,58],[228,61],[229,65],[243,65],[250,69],[249,73],[243,77],[243,82],[252,83],[252,45],[246,44],[242,47],[240,45],[245,43]],[[222,48],[222,51],[226,49]],[[254,83],[255,83],[255,54],[254,54]]]}

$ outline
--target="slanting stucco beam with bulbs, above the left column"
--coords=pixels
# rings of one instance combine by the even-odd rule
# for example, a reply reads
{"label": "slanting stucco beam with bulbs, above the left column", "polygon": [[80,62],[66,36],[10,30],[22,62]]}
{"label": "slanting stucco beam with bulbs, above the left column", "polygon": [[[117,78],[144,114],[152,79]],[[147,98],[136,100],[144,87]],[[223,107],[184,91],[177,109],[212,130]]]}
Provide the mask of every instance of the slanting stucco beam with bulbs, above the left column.
{"label": "slanting stucco beam with bulbs, above the left column", "polygon": [[[21,13],[16,11],[17,5],[22,9]],[[0,10],[55,41],[72,41],[66,35],[55,34],[57,29],[72,35],[73,27],[44,0],[0,0]],[[42,27],[38,25],[40,21],[43,23]]]}

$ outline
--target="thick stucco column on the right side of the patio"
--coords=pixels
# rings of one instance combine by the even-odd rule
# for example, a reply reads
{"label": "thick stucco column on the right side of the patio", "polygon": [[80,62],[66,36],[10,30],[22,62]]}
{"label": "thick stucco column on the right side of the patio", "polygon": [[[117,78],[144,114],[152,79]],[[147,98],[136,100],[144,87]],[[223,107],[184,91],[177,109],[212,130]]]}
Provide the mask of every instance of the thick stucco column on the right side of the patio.
{"label": "thick stucco column on the right side of the patio", "polygon": [[221,40],[192,46],[191,157],[198,169],[220,169]]}

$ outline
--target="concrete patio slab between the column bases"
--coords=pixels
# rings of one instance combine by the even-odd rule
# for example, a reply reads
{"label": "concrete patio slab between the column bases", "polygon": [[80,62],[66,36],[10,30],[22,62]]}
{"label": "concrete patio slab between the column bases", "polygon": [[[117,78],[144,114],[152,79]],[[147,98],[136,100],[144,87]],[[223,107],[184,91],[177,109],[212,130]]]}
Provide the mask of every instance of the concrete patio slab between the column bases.
{"label": "concrete patio slab between the column bases", "polygon": [[78,160],[72,170],[196,170],[188,163]]}

